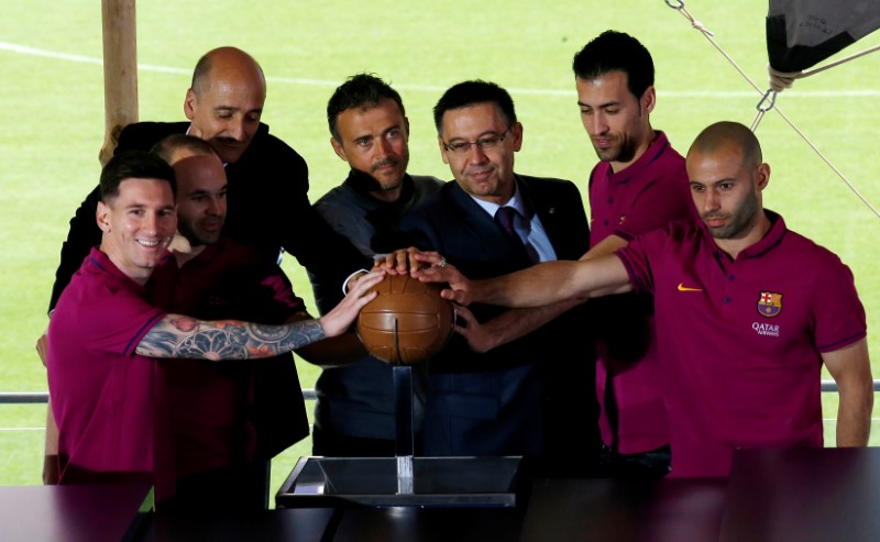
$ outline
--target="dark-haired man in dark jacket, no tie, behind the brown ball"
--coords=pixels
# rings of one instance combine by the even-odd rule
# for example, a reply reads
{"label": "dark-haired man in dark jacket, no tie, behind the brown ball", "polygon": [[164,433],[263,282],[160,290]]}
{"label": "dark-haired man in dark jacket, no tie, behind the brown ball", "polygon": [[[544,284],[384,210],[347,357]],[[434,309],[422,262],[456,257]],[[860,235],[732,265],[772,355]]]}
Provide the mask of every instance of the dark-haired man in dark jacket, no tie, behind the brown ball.
{"label": "dark-haired man in dark jacket, no tie, behind the brown ball", "polygon": [[[436,192],[442,181],[409,175],[409,120],[400,95],[371,74],[339,86],[327,103],[330,143],[350,166],[348,178],[315,207],[333,229],[373,257],[404,246],[398,224]],[[336,281],[309,274],[315,301],[323,313],[342,297]],[[414,378],[414,424],[421,424],[424,390]],[[358,363],[321,372],[315,383],[315,455],[372,457],[394,455],[396,413],[392,367],[364,353]]]}

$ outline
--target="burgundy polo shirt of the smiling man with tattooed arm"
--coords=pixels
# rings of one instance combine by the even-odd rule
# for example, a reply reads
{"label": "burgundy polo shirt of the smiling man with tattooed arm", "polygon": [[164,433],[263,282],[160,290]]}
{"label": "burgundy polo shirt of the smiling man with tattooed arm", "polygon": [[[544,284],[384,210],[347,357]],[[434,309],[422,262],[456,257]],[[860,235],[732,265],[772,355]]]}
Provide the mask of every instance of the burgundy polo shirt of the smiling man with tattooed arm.
{"label": "burgundy polo shirt of the smiling man with tattooed arm", "polygon": [[161,367],[135,349],[165,312],[92,248],[48,325],[48,386],[61,484],[150,480],[174,491]]}

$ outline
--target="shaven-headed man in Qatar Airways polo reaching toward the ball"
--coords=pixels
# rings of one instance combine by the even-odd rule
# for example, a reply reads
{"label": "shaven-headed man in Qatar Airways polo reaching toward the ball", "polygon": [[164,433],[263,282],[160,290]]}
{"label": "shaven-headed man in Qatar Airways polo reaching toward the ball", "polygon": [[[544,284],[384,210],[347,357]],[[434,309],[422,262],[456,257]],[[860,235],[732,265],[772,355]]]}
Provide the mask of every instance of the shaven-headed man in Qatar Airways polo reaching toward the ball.
{"label": "shaven-headed man in Qatar Airways polo reaching toward the ball", "polygon": [[737,447],[822,446],[823,363],[839,388],[837,445],[866,445],[872,377],[849,268],[763,208],[770,166],[748,128],[712,124],[686,166],[701,223],[675,222],[615,254],[494,279],[472,281],[450,265],[416,273],[449,281],[444,296],[463,305],[651,294],[671,476],[727,476]]}

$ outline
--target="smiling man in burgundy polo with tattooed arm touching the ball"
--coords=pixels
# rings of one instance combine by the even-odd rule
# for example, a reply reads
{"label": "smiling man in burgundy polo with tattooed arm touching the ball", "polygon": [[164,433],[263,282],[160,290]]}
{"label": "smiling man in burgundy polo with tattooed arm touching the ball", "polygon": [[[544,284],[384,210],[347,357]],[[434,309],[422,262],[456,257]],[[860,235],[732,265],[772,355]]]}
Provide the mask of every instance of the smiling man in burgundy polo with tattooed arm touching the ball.
{"label": "smiling man in burgundy polo with tattooed arm touching the ball", "polygon": [[[174,405],[163,366],[153,358],[205,361],[220,370],[220,360],[276,356],[339,335],[375,297],[364,288],[380,277],[359,280],[320,320],[268,325],[164,310],[146,285],[175,236],[174,170],[146,152],[120,153],[103,168],[100,188],[101,244],[65,289],[48,328],[58,483],[148,482],[157,501],[167,504],[176,490],[168,418]],[[212,420],[230,408],[198,406]]]}

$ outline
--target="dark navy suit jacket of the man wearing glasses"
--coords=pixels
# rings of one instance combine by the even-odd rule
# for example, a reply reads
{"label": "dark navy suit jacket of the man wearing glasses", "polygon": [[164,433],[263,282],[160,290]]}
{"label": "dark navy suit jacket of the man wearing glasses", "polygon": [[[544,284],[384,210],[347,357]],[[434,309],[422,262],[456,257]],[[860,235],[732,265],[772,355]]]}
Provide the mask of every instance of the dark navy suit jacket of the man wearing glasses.
{"label": "dark navy suit jacket of the man wearing glasses", "polygon": [[[559,259],[578,259],[590,230],[578,187],[568,180],[517,176],[520,193],[540,218]],[[440,252],[471,278],[531,265],[457,182],[403,222],[411,241]],[[482,322],[505,309],[473,305]],[[542,329],[485,354],[455,335],[430,362],[426,413],[429,455],[530,455],[581,450],[585,463],[598,442],[592,339],[576,308]],[[580,436],[571,431],[581,432]],[[568,433],[568,434],[566,434]],[[579,449],[580,438],[590,445]],[[576,463],[576,460],[574,460]],[[574,467],[572,467],[574,468]]]}

